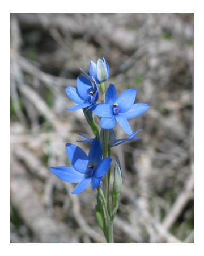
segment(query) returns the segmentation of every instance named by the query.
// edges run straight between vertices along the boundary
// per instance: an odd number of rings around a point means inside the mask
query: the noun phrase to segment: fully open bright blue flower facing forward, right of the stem
[[[111,129],[117,121],[127,134],[133,133],[127,119],[137,117],[150,108],[145,103],[134,104],[136,92],[135,89],[128,89],[117,96],[115,86],[113,84],[109,85],[105,93],[105,103],[95,104],[90,109],[101,117],[101,128]]]

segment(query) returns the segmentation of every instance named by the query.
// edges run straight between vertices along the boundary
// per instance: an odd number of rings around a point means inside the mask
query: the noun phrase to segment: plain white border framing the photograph
[[[8,255],[197,255],[203,242],[203,9],[201,1],[8,1],[1,12],[1,250]],[[122,245],[73,245],[73,244],[11,244],[10,245],[10,13],[12,12],[138,12],[138,13],[195,13],[195,72],[194,72],[194,118],[195,118],[195,244],[122,244]],[[6,72],[7,71],[7,72]],[[5,97],[5,95],[7,97]],[[5,136],[7,140],[5,140]],[[5,160],[5,152],[7,158]],[[198,254],[199,255],[199,254]]]

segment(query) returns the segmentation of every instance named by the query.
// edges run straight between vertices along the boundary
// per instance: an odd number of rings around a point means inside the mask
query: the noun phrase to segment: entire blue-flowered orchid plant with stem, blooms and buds
[[[88,68],[89,75],[80,68],[83,76],[77,77],[77,87],[68,86],[67,96],[73,100],[76,105],[67,108],[67,110],[82,109],[84,116],[95,138],[89,139],[83,134],[84,140],[78,142],[91,142],[88,155],[82,148],[75,144],[66,144],[66,153],[71,166],[50,167],[50,171],[58,176],[61,180],[78,183],[72,194],[78,194],[84,191],[90,183],[92,189],[97,189],[95,199],[96,221],[101,230],[103,230],[107,243],[114,243],[113,222],[118,209],[118,200],[120,197],[122,185],[122,172],[120,161],[116,158],[114,166],[114,181],[112,190],[112,200],[109,200],[109,185],[111,180],[111,148],[118,146],[126,141],[135,141],[133,138],[141,129],[131,130],[128,119],[137,117],[146,112],[148,104],[134,103],[136,89],[125,90],[118,96],[116,87],[110,84],[105,90],[105,81],[109,78],[109,65],[103,58],[98,59],[97,63],[90,61]],[[101,102],[99,100],[100,84]],[[94,119],[94,114],[99,118],[99,127]],[[116,139],[114,127],[116,121],[121,128],[129,135],[124,139]],[[103,180],[103,182],[102,182]]]

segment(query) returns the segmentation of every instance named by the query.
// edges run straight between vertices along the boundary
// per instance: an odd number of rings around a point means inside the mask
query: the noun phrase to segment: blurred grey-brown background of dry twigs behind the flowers
[[[76,132],[93,138],[65,93],[79,67],[105,57],[118,94],[137,89],[148,111],[139,141],[113,148],[122,168],[116,243],[193,243],[193,14],[11,14],[11,243],[104,243],[96,190],[49,167],[67,165]],[[127,135],[116,125],[116,138]],[[114,164],[113,164],[114,166]],[[113,177],[111,177],[113,181]],[[112,183],[112,182],[111,182]]]

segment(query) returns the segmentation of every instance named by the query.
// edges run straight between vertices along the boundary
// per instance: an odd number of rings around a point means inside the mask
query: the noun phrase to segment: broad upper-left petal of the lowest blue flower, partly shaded
[[[85,174],[86,168],[88,165],[88,156],[82,150],[82,148],[80,148],[74,144],[67,143],[66,144],[66,152],[67,152],[67,157],[69,158],[70,163],[73,165],[73,167],[77,171]]]

